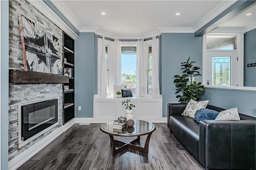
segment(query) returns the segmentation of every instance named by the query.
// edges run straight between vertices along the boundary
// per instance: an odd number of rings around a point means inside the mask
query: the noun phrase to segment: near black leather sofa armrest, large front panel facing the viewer
[[[256,168],[255,120],[203,120],[199,124],[199,160],[206,169]]]

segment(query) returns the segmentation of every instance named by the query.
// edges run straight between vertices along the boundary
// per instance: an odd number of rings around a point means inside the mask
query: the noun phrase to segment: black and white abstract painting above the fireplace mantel
[[[19,15],[24,69],[62,75],[62,46],[42,23]]]

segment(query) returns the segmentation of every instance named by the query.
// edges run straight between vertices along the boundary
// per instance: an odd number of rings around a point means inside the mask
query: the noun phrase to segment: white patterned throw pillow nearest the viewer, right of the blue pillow
[[[238,108],[221,111],[216,117],[216,120],[240,120]]]

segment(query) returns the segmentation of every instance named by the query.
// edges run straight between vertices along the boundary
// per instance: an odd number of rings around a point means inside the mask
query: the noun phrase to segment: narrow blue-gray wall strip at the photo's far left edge
[[[9,2],[1,1],[1,169],[8,169]]]

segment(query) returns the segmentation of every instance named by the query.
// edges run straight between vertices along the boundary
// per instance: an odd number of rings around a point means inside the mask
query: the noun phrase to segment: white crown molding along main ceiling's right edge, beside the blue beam
[[[201,19],[194,27],[194,32],[197,32],[199,29],[201,29],[203,26],[206,25],[210,20],[214,19],[216,16],[218,16],[220,13],[222,13],[224,10],[226,10],[228,7],[236,3],[236,1],[223,1],[220,3],[216,8],[214,8],[212,11],[210,11],[203,19]]]

